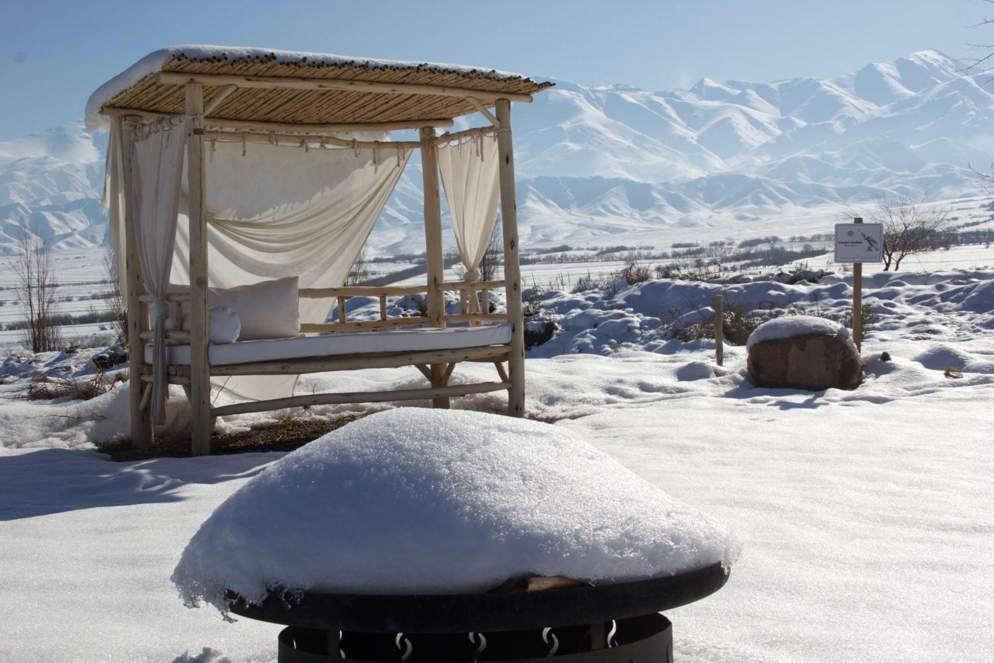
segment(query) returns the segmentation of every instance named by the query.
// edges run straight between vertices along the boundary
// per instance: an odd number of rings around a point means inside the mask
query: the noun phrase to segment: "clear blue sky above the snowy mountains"
[[[968,57],[979,0],[0,0],[0,140],[83,115],[89,93],[170,44],[479,65],[649,90],[830,78],[934,48]]]

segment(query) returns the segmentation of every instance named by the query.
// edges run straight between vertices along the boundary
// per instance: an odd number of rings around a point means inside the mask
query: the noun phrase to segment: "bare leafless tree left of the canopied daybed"
[[[27,229],[19,244],[21,255],[14,262],[14,275],[27,317],[24,342],[33,352],[59,349],[62,328],[55,320],[58,307],[52,246]]]

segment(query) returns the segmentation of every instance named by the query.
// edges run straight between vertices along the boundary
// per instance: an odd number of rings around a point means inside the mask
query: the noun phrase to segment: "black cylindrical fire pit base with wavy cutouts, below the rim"
[[[672,663],[673,628],[661,614],[490,633],[328,632],[288,626],[279,634],[278,661],[539,663],[550,656],[561,663]]]

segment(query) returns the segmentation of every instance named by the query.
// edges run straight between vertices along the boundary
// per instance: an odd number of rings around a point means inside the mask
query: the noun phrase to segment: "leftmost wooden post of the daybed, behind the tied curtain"
[[[152,443],[152,413],[141,406],[141,369],[145,365],[145,342],[141,332],[145,331],[144,308],[139,299],[145,293],[145,284],[141,278],[141,268],[138,265],[138,245],[134,239],[134,206],[131,198],[131,129],[134,123],[122,121],[120,116],[113,119],[115,133],[120,138],[121,170],[124,181],[121,182],[124,196],[124,264],[127,282],[127,352],[128,352],[128,384],[131,404],[131,444],[138,448],[147,447]],[[113,149],[110,145],[109,149]],[[121,247],[119,247],[121,248]]]

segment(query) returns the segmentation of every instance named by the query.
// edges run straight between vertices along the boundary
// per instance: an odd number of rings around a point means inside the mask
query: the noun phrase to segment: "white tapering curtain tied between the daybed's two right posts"
[[[479,279],[477,268],[494,228],[500,196],[497,158],[497,138],[490,136],[438,149],[438,171],[467,281]]]

